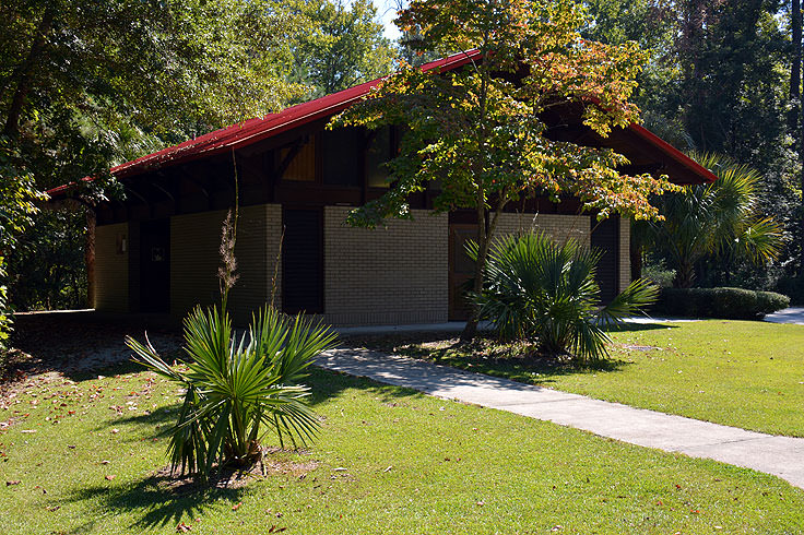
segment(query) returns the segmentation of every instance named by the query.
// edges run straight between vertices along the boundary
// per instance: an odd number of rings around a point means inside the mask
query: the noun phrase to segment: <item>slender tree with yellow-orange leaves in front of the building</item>
[[[422,49],[466,51],[480,59],[447,73],[410,66],[383,82],[335,124],[401,129],[399,155],[389,163],[394,186],[350,216],[374,226],[407,216],[407,197],[438,181],[438,211],[474,209],[477,262],[474,293],[483,288],[486,259],[503,209],[523,195],[578,197],[586,210],[636,218],[657,214],[652,193],[664,179],[620,175],[626,160],[608,150],[545,136],[541,114],[584,103],[583,122],[601,135],[638,119],[629,102],[645,60],[636,44],[604,45],[579,33],[584,10],[570,0],[436,0],[411,2],[397,21]],[[463,337],[474,336],[476,307]]]

